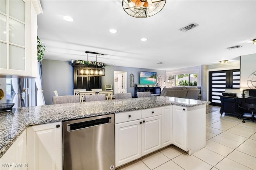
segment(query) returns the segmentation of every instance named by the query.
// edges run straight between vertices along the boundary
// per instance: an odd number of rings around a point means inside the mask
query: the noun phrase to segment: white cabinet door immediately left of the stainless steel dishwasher
[[[62,123],[27,128],[28,170],[62,170]]]

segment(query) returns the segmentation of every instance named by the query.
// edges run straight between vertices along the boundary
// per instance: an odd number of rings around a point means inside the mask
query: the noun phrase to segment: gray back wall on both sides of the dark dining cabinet
[[[44,90],[44,100],[46,105],[52,104],[53,91],[57,90],[58,95],[73,95],[74,75],[73,67],[68,61],[43,60],[42,89]],[[127,92],[134,96],[134,87],[130,87],[130,74],[134,75],[134,86],[140,81],[140,71],[153,71],[162,76],[162,85],[166,76],[165,70],[142,69],[133,67],[119,67],[106,65],[105,76],[102,76],[102,89],[105,84],[112,84],[114,89],[114,71],[127,72]],[[161,88],[161,90],[163,87]]]

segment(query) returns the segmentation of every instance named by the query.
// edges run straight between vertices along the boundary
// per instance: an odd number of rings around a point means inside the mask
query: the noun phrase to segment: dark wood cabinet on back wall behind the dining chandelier
[[[92,75],[79,75],[80,65],[73,65],[74,68],[74,89],[86,89],[86,91],[91,91],[92,89],[101,89],[102,84],[101,76]]]

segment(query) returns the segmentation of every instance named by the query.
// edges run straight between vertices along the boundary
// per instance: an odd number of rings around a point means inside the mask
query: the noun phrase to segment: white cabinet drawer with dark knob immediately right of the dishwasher
[[[115,124],[141,119],[141,110],[115,113]]]

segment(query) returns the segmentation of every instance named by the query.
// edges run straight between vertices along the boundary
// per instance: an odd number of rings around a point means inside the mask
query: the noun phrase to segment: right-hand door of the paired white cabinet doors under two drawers
[[[162,116],[142,119],[142,156],[161,148]]]

